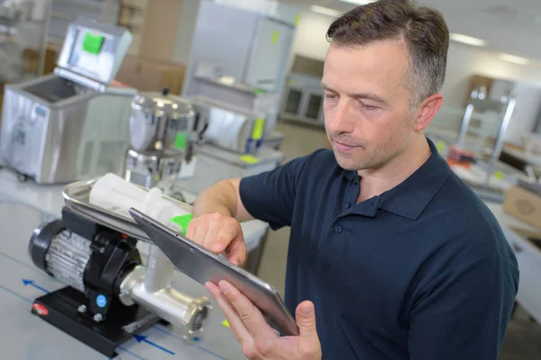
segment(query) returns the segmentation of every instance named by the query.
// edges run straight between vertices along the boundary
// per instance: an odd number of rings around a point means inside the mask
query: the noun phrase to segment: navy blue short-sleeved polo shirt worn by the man
[[[318,150],[243,178],[241,199],[291,227],[286,304],[314,302],[325,359],[494,360],[518,265],[491,211],[432,155],[363,202],[359,176]]]

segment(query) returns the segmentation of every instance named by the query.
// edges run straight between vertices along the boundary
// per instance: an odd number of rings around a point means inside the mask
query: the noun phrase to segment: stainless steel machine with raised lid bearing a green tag
[[[132,41],[123,28],[78,18],[54,74],[6,85],[0,152],[38,184],[119,173],[133,88],[113,83]]]

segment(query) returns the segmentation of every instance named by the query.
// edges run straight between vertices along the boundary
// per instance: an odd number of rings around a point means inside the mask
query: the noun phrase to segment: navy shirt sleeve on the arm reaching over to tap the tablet
[[[291,226],[300,176],[310,157],[298,157],[276,169],[243,177],[239,193],[246,210],[271,229]]]

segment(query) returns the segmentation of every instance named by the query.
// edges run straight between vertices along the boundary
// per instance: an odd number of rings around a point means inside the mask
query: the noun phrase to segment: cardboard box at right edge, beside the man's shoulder
[[[511,186],[505,194],[503,211],[541,229],[541,196],[519,186]]]

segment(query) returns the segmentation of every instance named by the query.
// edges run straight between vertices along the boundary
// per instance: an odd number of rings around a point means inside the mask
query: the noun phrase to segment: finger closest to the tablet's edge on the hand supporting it
[[[222,293],[225,293],[227,300],[233,305],[234,310],[239,314],[240,319],[243,320],[244,326],[252,334],[256,344],[261,341],[271,341],[277,337],[274,330],[271,329],[267,321],[263,318],[261,311],[243,293],[239,292],[232,284],[229,284],[225,280],[220,281],[218,285]]]

